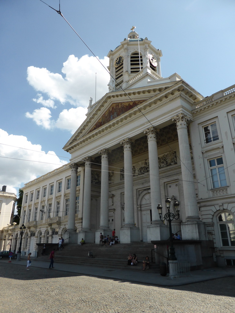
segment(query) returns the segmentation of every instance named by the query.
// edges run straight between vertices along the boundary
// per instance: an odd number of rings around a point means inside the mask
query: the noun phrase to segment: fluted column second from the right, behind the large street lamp
[[[144,134],[148,137],[149,146],[149,177],[151,192],[151,208],[152,208],[152,224],[159,223],[160,217],[157,206],[161,203],[161,189],[158,166],[158,148],[157,148],[157,131],[154,127],[144,130]],[[162,223],[162,222],[161,222]]]

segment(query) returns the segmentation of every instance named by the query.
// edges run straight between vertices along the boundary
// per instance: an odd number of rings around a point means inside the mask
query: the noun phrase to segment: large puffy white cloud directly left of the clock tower
[[[108,58],[100,59],[106,68]],[[35,90],[47,94],[50,100],[66,102],[74,106],[87,107],[92,96],[95,99],[95,81],[97,73],[97,100],[108,91],[109,73],[99,61],[88,55],[80,59],[70,55],[63,64],[61,74],[51,73],[46,68],[29,66],[27,80]]]

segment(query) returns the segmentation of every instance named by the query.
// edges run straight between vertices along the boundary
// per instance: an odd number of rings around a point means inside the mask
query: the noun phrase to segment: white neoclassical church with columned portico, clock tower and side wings
[[[177,73],[163,78],[161,56],[135,31],[109,51],[109,92],[63,147],[70,163],[22,188],[24,253],[114,228],[121,243],[167,240],[167,196],[180,203],[172,232],[213,241],[214,262],[235,266],[235,85],[205,98]]]

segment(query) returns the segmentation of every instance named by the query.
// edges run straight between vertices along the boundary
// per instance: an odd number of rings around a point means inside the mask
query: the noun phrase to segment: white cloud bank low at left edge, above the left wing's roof
[[[68,163],[60,160],[54,151],[47,153],[42,151],[40,145],[32,144],[25,136],[9,135],[2,129],[0,129],[0,156],[0,188],[6,185],[8,192],[16,194],[24,183]]]

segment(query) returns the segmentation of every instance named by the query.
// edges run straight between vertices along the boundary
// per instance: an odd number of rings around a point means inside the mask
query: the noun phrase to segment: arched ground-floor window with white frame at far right
[[[222,246],[235,246],[235,225],[233,215],[225,212],[218,215],[217,218]]]

